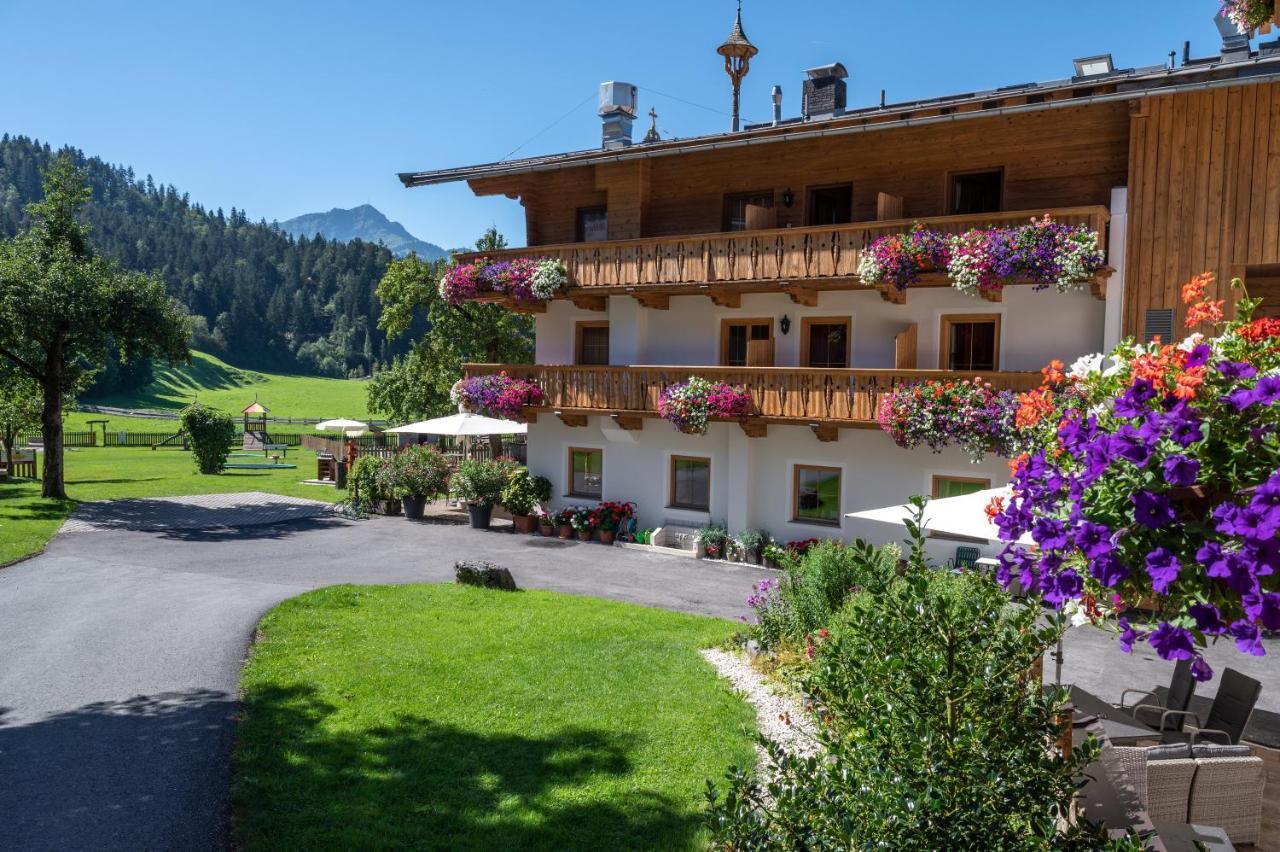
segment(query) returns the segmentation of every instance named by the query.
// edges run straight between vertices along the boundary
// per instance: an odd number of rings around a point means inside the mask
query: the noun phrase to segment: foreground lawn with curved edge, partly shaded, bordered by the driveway
[[[246,849],[701,848],[753,714],[698,649],[736,626],[539,591],[337,586],[261,623]]]

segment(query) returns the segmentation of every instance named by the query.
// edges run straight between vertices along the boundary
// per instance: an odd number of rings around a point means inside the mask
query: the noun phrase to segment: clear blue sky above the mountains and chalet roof
[[[742,111],[767,119],[778,83],[783,113],[799,113],[803,69],[836,60],[850,72],[850,106],[863,106],[881,88],[895,101],[1068,77],[1071,58],[1089,54],[1156,64],[1187,38],[1204,55],[1219,47],[1217,6],[746,0],[760,54]],[[516,156],[593,147],[605,79],[640,86],[640,107],[657,107],[664,136],[727,129],[728,81],[714,49],[733,9],[733,0],[0,0],[0,132],[74,145],[253,219],[367,202],[445,247],[489,224],[520,244],[517,202],[474,198],[462,184],[403,189],[396,173],[504,159],[562,116]]]

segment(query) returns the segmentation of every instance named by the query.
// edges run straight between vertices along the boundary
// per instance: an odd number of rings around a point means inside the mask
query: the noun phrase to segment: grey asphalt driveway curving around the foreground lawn
[[[481,555],[521,586],[726,618],[763,576],[265,494],[87,504],[44,555],[0,569],[0,849],[225,848],[261,615],[334,583],[451,581]]]

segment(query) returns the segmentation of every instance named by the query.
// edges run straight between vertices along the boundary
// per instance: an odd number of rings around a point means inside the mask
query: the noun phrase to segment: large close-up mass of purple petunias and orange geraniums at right
[[[1248,298],[1222,322],[1211,280],[1183,301],[1217,338],[1125,343],[1106,368],[1091,356],[1046,371],[1018,416],[1036,449],[1011,463],[1012,496],[993,512],[1001,539],[1029,533],[1039,550],[1006,546],[1004,582],[1055,606],[1112,600],[1098,618],[1116,618],[1121,649],[1147,641],[1199,679],[1207,640],[1262,655],[1261,631],[1280,629],[1280,324],[1252,320]],[[1149,632],[1120,615],[1142,600],[1160,614]]]

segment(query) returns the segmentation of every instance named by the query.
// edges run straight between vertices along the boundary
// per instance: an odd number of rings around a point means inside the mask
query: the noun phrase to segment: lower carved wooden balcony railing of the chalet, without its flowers
[[[547,404],[527,409],[554,412],[568,426],[585,426],[588,416],[612,416],[622,429],[643,429],[658,416],[663,389],[690,376],[744,385],[751,394],[751,414],[742,422],[759,438],[769,423],[810,426],[820,440],[835,440],[840,429],[876,429],[881,397],[893,388],[923,379],[968,380],[978,374],[945,370],[815,370],[809,367],[580,367],[468,363],[467,376],[506,371],[541,386]],[[982,374],[996,389],[1030,390],[1038,372]]]

